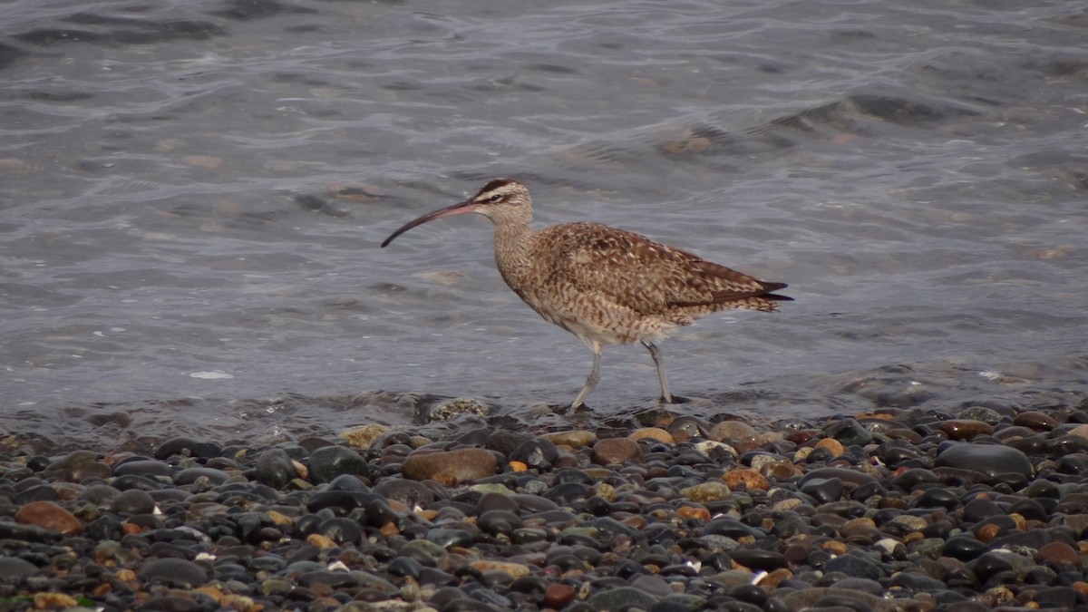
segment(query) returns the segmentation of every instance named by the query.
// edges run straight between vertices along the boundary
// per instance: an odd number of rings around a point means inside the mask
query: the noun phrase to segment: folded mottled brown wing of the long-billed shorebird
[[[597,223],[556,225],[542,237],[553,254],[549,282],[599,293],[644,315],[688,308],[772,310],[778,296],[763,296],[784,286]]]

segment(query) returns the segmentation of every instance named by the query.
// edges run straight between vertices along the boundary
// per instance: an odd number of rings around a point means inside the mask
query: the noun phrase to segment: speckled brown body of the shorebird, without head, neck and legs
[[[507,253],[496,243],[510,287],[545,319],[604,344],[656,342],[726,308],[777,310],[771,292],[784,286],[599,223],[553,225],[519,241]]]

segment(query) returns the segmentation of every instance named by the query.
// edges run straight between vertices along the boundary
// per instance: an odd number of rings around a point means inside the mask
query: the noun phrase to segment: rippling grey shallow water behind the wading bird
[[[664,344],[680,412],[1088,390],[1071,2],[76,2],[0,15],[0,428],[276,439],[459,395],[558,427],[591,353],[494,269],[518,178],[790,284]],[[655,405],[609,347],[588,418]]]

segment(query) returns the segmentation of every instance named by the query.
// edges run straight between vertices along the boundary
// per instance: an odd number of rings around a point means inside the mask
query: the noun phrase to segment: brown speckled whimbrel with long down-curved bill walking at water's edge
[[[479,212],[495,225],[495,262],[506,284],[546,321],[593,350],[593,369],[570,414],[601,380],[606,344],[640,342],[657,366],[662,401],[675,403],[657,343],[677,328],[727,308],[778,309],[786,283],[761,281],[691,253],[601,223],[532,229],[533,200],[517,181],[495,179],[469,199],[409,221],[385,238],[454,215]]]

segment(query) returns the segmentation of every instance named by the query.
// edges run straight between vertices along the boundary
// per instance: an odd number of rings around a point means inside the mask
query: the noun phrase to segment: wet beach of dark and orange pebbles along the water
[[[0,456],[0,608],[1088,607],[1088,401]],[[592,429],[592,430],[591,430]]]

